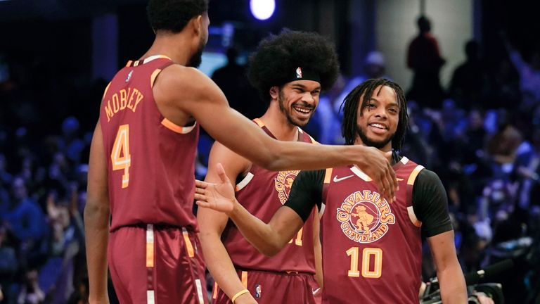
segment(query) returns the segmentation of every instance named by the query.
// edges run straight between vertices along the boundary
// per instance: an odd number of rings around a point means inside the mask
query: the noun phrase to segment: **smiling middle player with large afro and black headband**
[[[319,34],[283,31],[259,44],[249,66],[250,82],[269,101],[266,113],[255,120],[257,125],[281,141],[313,142],[300,127],[314,114],[321,90],[330,88],[338,75],[333,45]],[[285,203],[298,173],[265,170],[217,142],[210,151],[207,182],[219,182],[214,170],[217,163],[237,182],[238,201],[264,221]],[[200,208],[200,241],[217,283],[212,302],[314,303],[313,290],[318,285],[314,281],[315,261],[317,258],[321,265],[321,243],[313,209],[295,238],[268,258],[244,239],[224,213]]]

